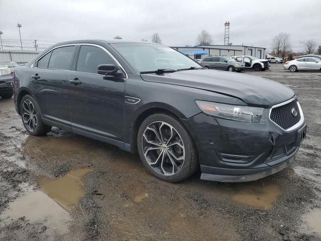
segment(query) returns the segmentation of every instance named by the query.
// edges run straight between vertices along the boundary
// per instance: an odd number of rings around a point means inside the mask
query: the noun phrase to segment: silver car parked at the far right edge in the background
[[[283,68],[295,72],[298,70],[321,70],[321,60],[312,57],[304,57],[286,61]]]

